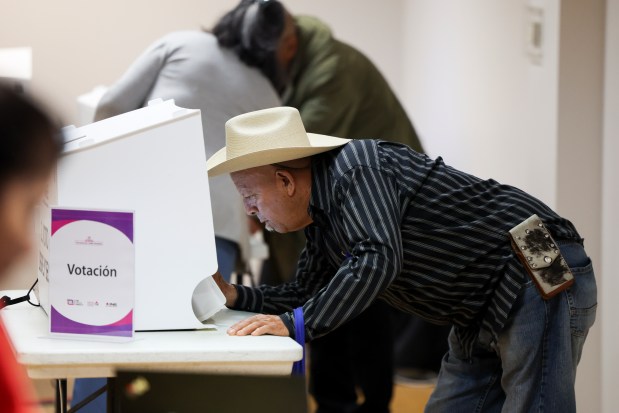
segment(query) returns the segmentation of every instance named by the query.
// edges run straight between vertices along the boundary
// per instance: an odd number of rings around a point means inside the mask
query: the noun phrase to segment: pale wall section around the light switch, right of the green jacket
[[[558,0],[541,66],[525,54],[522,0],[405,2],[404,91],[427,151],[555,203]]]

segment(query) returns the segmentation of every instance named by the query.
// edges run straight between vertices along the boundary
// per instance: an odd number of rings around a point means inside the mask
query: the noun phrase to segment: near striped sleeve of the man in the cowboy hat
[[[338,214],[341,220],[350,257],[303,305],[308,341],[363,312],[402,269],[395,179],[371,167],[356,167],[340,179],[335,193],[339,207],[330,213]],[[286,313],[284,318],[292,320],[292,313]]]

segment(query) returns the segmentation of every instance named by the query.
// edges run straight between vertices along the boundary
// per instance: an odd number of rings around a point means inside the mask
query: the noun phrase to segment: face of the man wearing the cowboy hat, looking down
[[[286,177],[273,166],[252,168],[231,174],[243,197],[245,212],[255,215],[268,231],[285,233],[307,225],[307,205],[295,202]]]

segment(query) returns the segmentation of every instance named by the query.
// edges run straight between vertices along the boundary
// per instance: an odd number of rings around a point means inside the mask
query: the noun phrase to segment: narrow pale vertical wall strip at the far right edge
[[[606,67],[604,98],[602,265],[600,325],[602,330],[602,411],[619,406],[619,0],[606,0]]]

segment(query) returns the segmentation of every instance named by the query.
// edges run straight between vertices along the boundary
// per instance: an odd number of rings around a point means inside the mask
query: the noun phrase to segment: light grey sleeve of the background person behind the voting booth
[[[95,121],[143,107],[166,63],[167,54],[165,38],[158,40],[142,53],[120,80],[103,95],[97,105]]]

